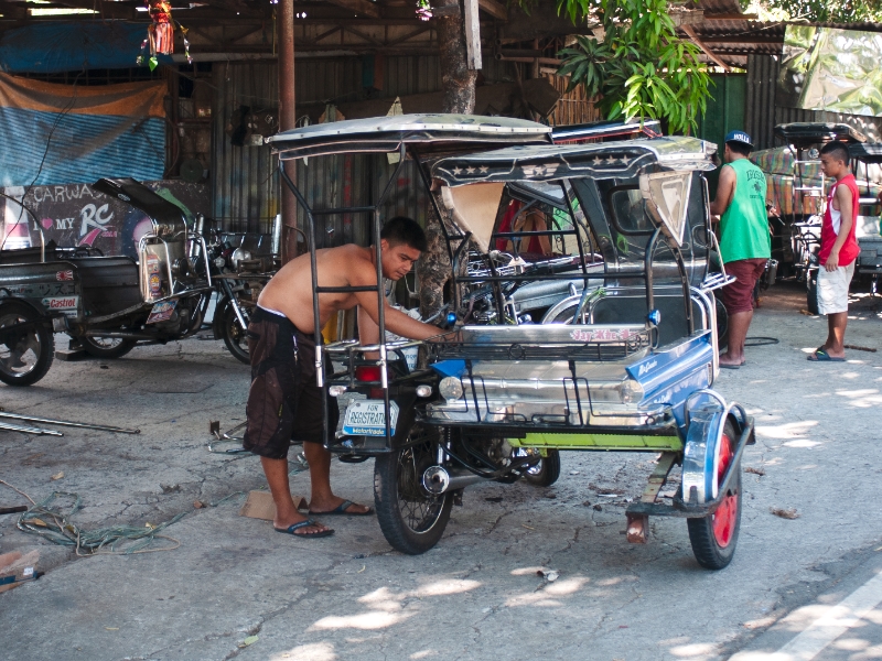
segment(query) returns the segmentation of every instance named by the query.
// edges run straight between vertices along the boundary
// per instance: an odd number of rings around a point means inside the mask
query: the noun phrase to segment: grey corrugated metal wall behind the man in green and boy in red
[[[882,118],[804,110],[775,106],[779,58],[775,55],[747,57],[747,94],[745,99],[745,130],[753,137],[756,149],[776,147],[775,124],[794,121],[826,121],[848,123],[872,141],[882,141]]]

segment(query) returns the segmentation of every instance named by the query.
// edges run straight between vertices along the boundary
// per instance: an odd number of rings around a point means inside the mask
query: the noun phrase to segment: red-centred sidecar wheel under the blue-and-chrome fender
[[[717,453],[720,457],[717,474],[722,480],[735,455],[735,426],[729,420]],[[734,466],[738,475],[717,510],[703,519],[687,519],[689,541],[698,564],[707,570],[722,570],[735,554],[738,532],[741,528],[741,465]]]

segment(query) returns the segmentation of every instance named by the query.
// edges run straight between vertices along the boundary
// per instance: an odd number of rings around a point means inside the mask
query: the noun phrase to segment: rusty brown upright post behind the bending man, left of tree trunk
[[[294,105],[294,0],[279,0],[276,24],[279,31],[279,130],[288,131],[297,124]],[[281,167],[297,181],[293,161],[281,161]],[[297,257],[297,199],[281,182],[280,210],[282,215],[282,263]]]

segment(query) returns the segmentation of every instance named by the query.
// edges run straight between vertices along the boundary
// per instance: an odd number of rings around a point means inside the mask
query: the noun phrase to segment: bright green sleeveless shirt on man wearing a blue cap
[[[765,174],[747,159],[729,166],[735,171],[735,194],[720,218],[723,262],[772,257],[772,237],[765,210]]]

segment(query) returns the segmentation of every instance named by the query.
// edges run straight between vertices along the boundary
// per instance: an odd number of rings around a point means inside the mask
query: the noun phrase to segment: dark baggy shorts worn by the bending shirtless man
[[[251,388],[245,449],[283,459],[291,441],[322,443],[322,390],[315,386],[315,342],[288,317],[256,308],[248,324]],[[329,433],[340,411],[329,398]]]

